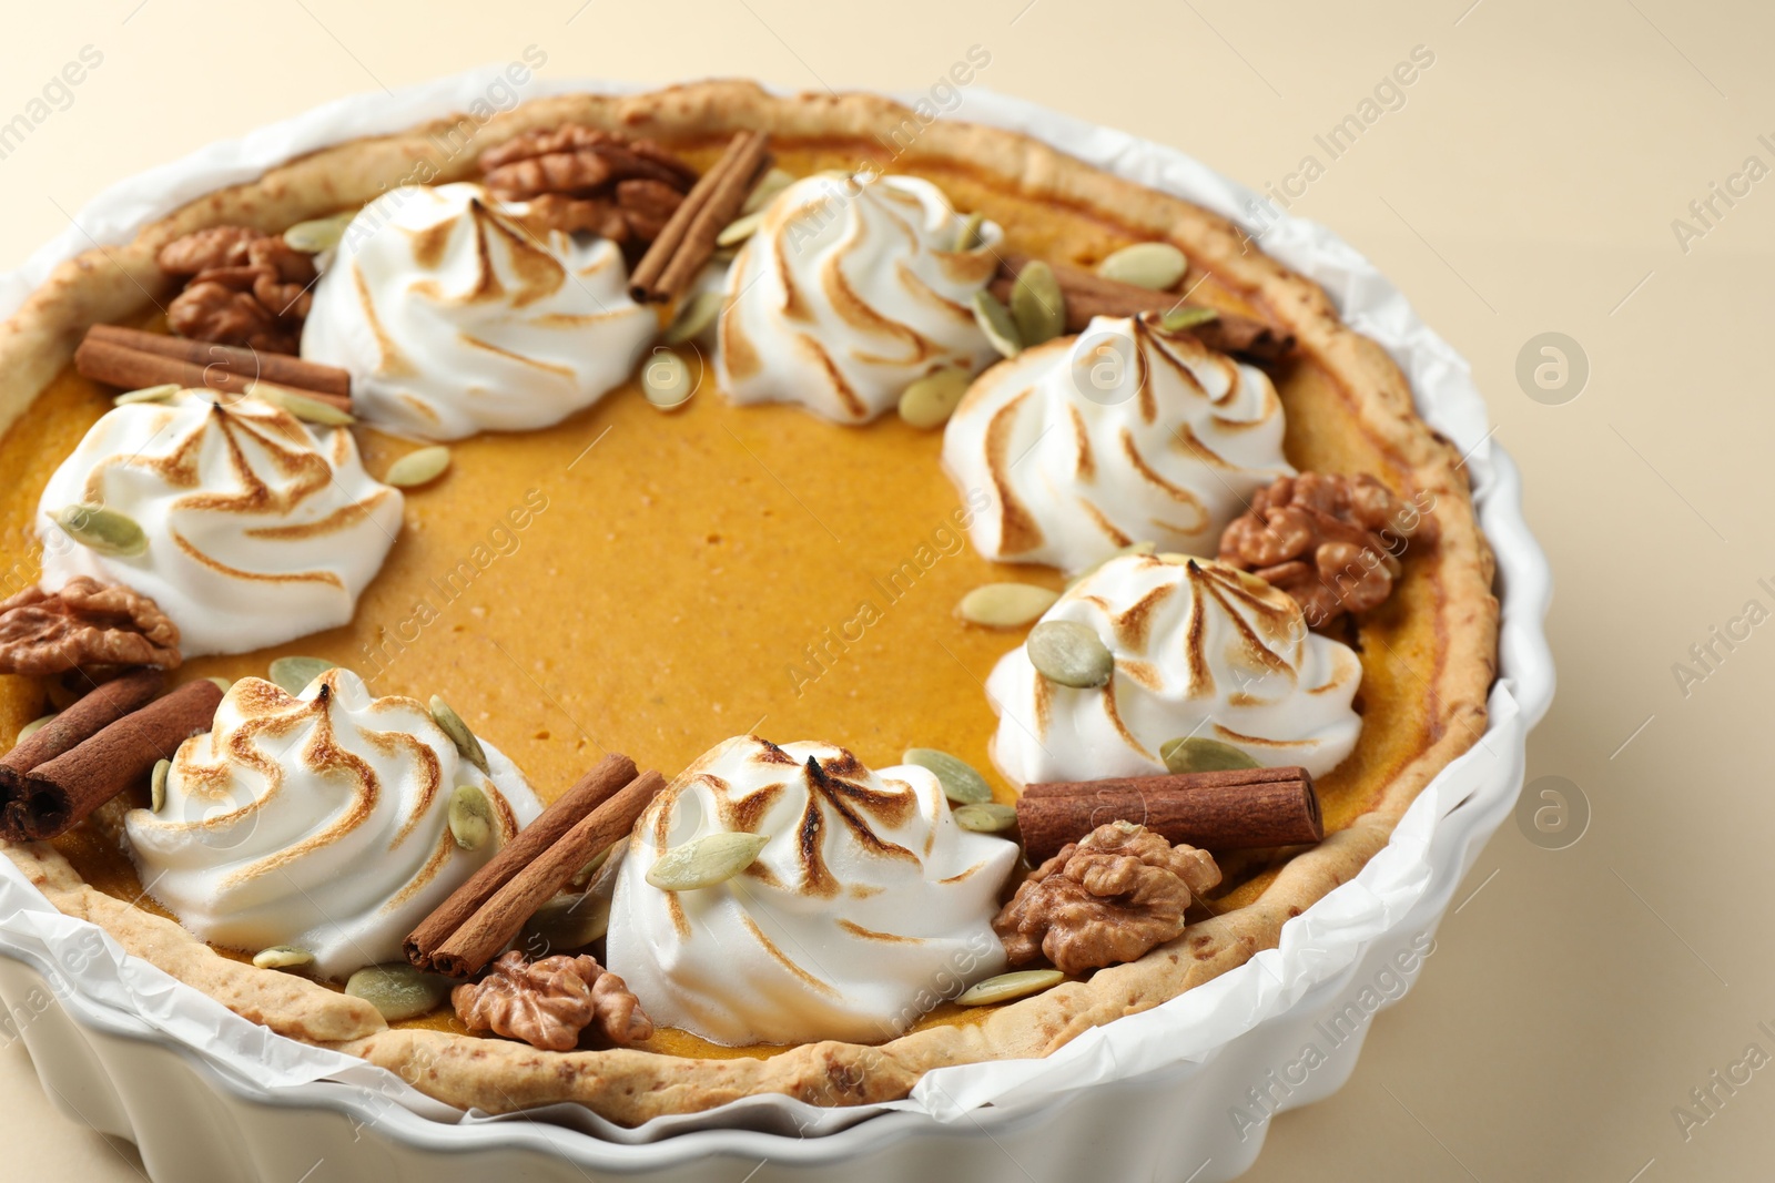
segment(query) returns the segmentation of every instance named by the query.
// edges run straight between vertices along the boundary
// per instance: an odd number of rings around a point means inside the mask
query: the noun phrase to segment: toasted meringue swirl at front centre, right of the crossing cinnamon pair
[[[724,832],[770,841],[717,887],[648,883],[667,850]],[[992,915],[1015,860],[955,823],[925,768],[738,736],[637,823],[607,965],[657,1023],[715,1043],[877,1043],[1003,968]]]

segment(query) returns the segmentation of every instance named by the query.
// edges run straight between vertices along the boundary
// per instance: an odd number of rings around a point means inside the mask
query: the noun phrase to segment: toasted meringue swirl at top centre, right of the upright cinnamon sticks
[[[841,424],[898,404],[916,378],[998,356],[973,298],[1003,234],[957,252],[964,220],[930,181],[813,176],[783,190],[728,277],[721,388],[735,403],[801,403]]]

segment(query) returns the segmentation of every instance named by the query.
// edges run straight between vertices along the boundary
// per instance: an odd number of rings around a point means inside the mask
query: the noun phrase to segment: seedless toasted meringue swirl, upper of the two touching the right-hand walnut
[[[943,435],[958,488],[985,490],[974,548],[1079,571],[1129,543],[1212,555],[1253,490],[1294,472],[1269,376],[1143,319],[994,365]]]

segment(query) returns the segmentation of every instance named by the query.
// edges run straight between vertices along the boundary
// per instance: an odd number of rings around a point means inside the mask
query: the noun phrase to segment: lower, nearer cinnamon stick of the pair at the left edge
[[[25,795],[9,800],[0,814],[0,837],[41,842],[66,834],[206,731],[220,702],[222,688],[213,681],[188,681],[37,764],[25,773]]]

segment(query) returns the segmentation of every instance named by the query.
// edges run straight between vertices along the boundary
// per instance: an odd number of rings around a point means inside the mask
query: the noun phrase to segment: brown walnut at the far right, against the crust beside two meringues
[[[1436,543],[1436,520],[1363,474],[1303,472],[1251,497],[1221,534],[1219,557],[1280,587],[1324,628],[1381,607],[1408,543]]]

